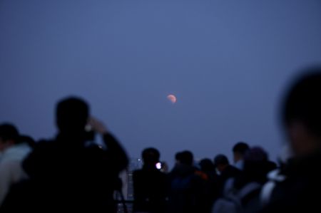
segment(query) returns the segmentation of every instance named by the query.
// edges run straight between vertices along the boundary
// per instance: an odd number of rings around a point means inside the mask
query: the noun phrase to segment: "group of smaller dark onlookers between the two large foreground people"
[[[193,153],[184,150],[176,153],[173,170],[162,172],[156,167],[160,162],[156,148],[143,150],[142,158],[143,168],[133,172],[133,212],[236,212],[227,209],[226,202],[236,207],[243,198],[240,207],[256,212],[267,174],[277,170],[263,148],[245,142],[234,145],[233,164],[223,154],[195,162]]]

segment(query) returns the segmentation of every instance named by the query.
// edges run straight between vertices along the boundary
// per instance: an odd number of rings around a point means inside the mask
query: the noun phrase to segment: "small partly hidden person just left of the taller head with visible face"
[[[240,175],[240,170],[233,165],[230,165],[228,157],[219,154],[214,157],[214,165],[216,170],[220,173],[218,176],[218,196],[223,194],[223,188],[226,180],[230,177],[236,177]]]

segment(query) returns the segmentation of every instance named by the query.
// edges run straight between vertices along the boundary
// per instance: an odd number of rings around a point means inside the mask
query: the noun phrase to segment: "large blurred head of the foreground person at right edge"
[[[321,149],[321,67],[304,72],[290,86],[282,106],[282,122],[297,156]]]

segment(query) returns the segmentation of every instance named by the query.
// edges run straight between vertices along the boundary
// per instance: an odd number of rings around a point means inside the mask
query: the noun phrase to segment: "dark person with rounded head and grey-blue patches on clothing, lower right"
[[[267,152],[252,147],[243,160],[243,170],[226,180],[223,197],[215,202],[213,213],[255,213],[260,209],[260,189],[269,170]]]

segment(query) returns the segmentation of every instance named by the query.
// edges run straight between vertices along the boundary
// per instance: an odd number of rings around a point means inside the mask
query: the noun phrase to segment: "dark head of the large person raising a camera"
[[[61,133],[77,134],[85,131],[88,104],[81,98],[66,98],[56,106],[56,124]]]

